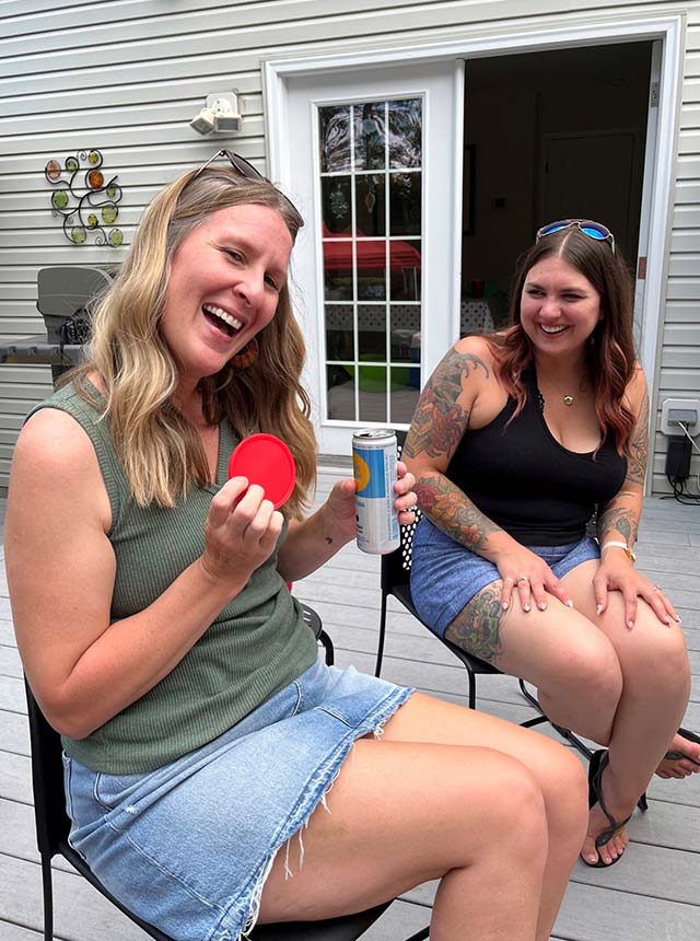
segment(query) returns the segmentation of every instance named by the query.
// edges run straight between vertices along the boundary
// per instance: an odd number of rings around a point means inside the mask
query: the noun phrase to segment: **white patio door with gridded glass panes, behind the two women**
[[[458,336],[462,61],[288,79],[293,262],[319,449],[407,427]]]

